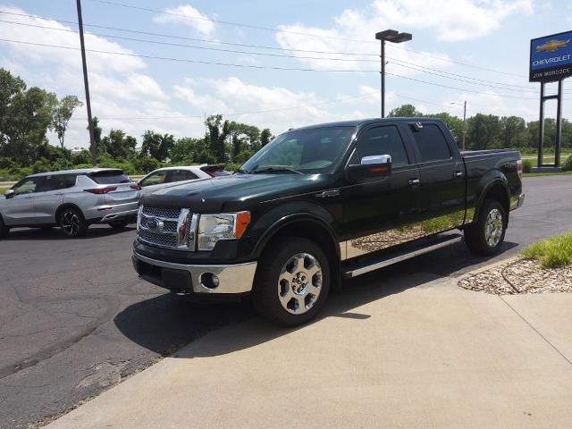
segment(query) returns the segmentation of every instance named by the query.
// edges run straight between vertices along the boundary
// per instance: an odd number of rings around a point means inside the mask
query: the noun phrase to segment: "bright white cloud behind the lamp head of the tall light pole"
[[[483,37],[498,28],[508,16],[532,13],[532,10],[532,0],[375,0],[364,9],[346,9],[334,18],[330,28],[301,23],[281,25],[279,28],[284,31],[277,33],[275,38],[286,49],[368,55],[349,57],[292,52],[301,63],[315,69],[378,70],[379,60],[375,55],[379,52],[379,44],[374,43],[373,37],[379,29],[399,28],[412,32],[415,29],[430,29],[438,39],[459,41]],[[304,33],[320,38],[306,36]],[[360,42],[367,40],[372,40],[372,43]],[[452,65],[449,55],[444,53],[415,54],[401,47],[387,45],[390,72],[416,74],[419,71],[410,68],[413,64],[425,67],[438,65],[440,68]],[[344,61],[336,60],[340,57]]]

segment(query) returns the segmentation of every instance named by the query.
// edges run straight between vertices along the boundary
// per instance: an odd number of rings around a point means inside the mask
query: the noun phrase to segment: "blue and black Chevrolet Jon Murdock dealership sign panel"
[[[530,81],[551,82],[572,76],[572,31],[530,41]]]

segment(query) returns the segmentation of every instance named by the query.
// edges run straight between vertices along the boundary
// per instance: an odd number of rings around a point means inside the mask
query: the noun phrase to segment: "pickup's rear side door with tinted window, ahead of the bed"
[[[420,215],[426,235],[462,225],[466,210],[465,164],[449,130],[436,122],[409,124],[419,162]]]

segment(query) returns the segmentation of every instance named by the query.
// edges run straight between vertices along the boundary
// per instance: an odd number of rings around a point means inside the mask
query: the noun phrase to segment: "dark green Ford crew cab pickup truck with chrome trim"
[[[142,198],[133,264],[188,299],[250,294],[293,326],[355,277],[463,240],[497,253],[524,202],[513,150],[459,153],[440,120],[289,130],[231,176]]]

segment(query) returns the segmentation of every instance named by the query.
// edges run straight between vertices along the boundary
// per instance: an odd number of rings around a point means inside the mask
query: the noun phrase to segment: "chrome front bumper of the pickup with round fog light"
[[[133,252],[133,266],[141,278],[178,294],[244,294],[252,290],[256,262],[233,265],[186,265],[159,261]],[[207,282],[213,275],[218,285]],[[205,283],[208,285],[206,286]]]

